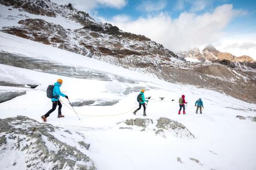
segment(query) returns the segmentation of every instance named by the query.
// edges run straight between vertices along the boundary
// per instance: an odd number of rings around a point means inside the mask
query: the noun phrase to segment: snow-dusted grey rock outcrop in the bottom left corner
[[[54,132],[62,133],[50,124],[41,124],[25,116],[0,119],[0,157],[8,152],[22,152],[27,169],[96,169],[87,155],[55,138],[51,134]],[[89,149],[90,144],[78,143]],[[51,145],[54,151],[48,148]]]

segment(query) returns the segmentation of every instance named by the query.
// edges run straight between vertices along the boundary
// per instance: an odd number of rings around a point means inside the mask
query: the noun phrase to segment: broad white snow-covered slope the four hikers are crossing
[[[46,97],[46,88],[61,78],[61,91],[69,96],[70,101],[84,102],[83,106],[74,107],[80,120],[68,101],[61,98],[65,118],[57,118],[55,111],[48,117],[47,123],[65,128],[72,134],[81,133],[86,143],[91,144],[89,150],[83,149],[82,153],[90,157],[97,169],[256,168],[256,123],[252,121],[255,120],[252,117],[256,116],[255,104],[212,90],[168,83],[150,75],[4,33],[0,35],[2,39],[6,38],[5,43],[0,45],[1,51],[24,55],[49,65],[55,63],[74,66],[77,70],[90,70],[94,75],[94,78],[87,76],[79,79],[76,76],[59,76],[54,71],[67,71],[70,67],[52,67],[51,74],[51,71],[0,64],[0,82],[38,85],[34,89],[27,85],[0,86],[0,91],[26,91],[26,94],[0,104],[0,118],[24,115],[41,122],[40,116],[52,106]],[[118,79],[114,80],[116,77]],[[133,114],[138,107],[137,94],[142,88],[146,89],[145,96],[152,96],[146,117],[142,116],[142,109],[137,115]],[[182,94],[185,94],[188,102],[187,114],[178,115],[178,99]],[[159,97],[164,97],[163,101]],[[203,114],[195,114],[194,104],[198,98],[204,102]],[[64,139],[62,133],[56,131],[54,134],[62,142],[79,149],[77,141],[81,140],[81,136],[65,135],[68,138]],[[6,134],[0,135],[4,139],[3,135]],[[50,141],[47,138],[44,140]],[[12,139],[8,139],[9,142]],[[46,144],[53,147],[50,142]],[[25,160],[20,160],[19,166],[15,166],[14,162],[5,164],[5,155],[14,152],[10,147],[7,150],[4,148],[7,145],[3,142],[0,144],[4,153],[0,155],[1,169],[22,169],[20,165],[26,167]],[[18,149],[19,154],[22,152],[22,149]]]

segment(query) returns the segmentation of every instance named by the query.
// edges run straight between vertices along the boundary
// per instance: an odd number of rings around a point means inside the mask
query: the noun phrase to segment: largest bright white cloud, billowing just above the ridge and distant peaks
[[[183,12],[177,19],[161,12],[137,20],[114,18],[108,22],[123,31],[145,35],[177,52],[219,40],[228,23],[241,13],[243,11],[234,10],[232,5],[222,5],[212,13],[201,15]]]

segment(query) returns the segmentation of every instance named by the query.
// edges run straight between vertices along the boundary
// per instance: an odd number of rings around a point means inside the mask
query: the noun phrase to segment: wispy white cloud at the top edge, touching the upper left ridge
[[[120,9],[127,4],[127,0],[52,0],[59,5],[71,3],[74,8],[91,13],[93,9],[99,7],[110,7]]]

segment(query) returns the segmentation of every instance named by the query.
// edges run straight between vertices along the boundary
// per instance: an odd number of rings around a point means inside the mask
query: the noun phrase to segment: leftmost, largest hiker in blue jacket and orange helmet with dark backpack
[[[45,115],[42,115],[42,116],[41,116],[41,118],[42,118],[42,120],[43,120],[44,122],[46,122],[46,118],[56,109],[57,105],[59,106],[59,108],[58,108],[58,118],[64,117],[64,116],[61,114],[61,107],[62,107],[62,105],[61,105],[61,103],[60,103],[60,101],[59,101],[59,96],[61,95],[62,97],[65,97],[65,98],[67,98],[67,99],[69,99],[69,98],[68,98],[67,95],[65,95],[65,94],[63,94],[62,92],[60,92],[59,87],[61,86],[62,82],[63,82],[63,81],[62,81],[61,79],[58,79],[57,82],[54,83],[54,87],[53,87],[52,92],[51,92],[52,95],[50,95],[50,96],[51,96],[51,101],[52,101],[52,109],[49,110]],[[50,85],[50,86],[51,86],[51,85]],[[49,88],[49,87],[48,87],[48,88]],[[50,91],[51,91],[51,89],[50,89]],[[47,92],[48,92],[48,89],[47,89]],[[47,95],[47,96],[48,96],[48,95]],[[49,96],[48,96],[48,97],[49,97]]]

